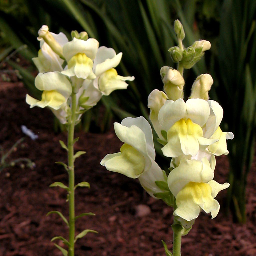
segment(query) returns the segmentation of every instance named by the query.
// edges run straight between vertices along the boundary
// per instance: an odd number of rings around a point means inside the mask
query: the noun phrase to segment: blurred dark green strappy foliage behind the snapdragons
[[[184,72],[185,99],[195,78],[210,73],[214,79],[210,97],[224,109],[222,130],[234,133],[228,145],[231,186],[227,205],[238,221],[245,222],[246,178],[256,132],[255,14],[255,0],[0,0],[0,68],[1,61],[15,50],[29,62],[37,56],[37,31],[43,24],[67,36],[74,29],[87,31],[100,45],[122,51],[118,71],[135,76],[134,82],[127,90],[103,97],[80,125],[84,131],[103,132],[112,125],[113,116],[148,119],[148,94],[163,88],[160,68],[175,68],[167,50],[177,45],[173,22],[178,18],[186,33],[185,47],[198,39],[211,42],[205,57]],[[31,93],[40,97],[31,74],[33,63],[26,68],[12,59],[8,63],[19,70]],[[161,146],[155,145],[159,151]]]

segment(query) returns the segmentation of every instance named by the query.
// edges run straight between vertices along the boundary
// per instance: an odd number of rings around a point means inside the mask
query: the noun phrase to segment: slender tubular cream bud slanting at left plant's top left
[[[42,25],[42,27],[38,30],[37,40],[41,41],[42,39],[44,39],[46,44],[48,44],[56,54],[58,54],[61,58],[64,58],[62,46],[55,40],[53,35],[49,32],[49,28],[47,25]]]

